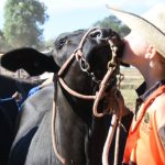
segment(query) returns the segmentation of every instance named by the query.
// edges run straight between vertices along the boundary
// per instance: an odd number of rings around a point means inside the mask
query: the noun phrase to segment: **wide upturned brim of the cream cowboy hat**
[[[160,29],[140,15],[107,7],[118,19],[140,34],[148,44],[156,47],[157,52],[165,57],[165,34]]]

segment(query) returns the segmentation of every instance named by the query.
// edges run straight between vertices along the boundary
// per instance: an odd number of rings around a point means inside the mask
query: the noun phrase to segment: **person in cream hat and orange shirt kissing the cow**
[[[165,165],[165,4],[142,15],[109,9],[131,29],[123,38],[122,62],[136,67],[144,77],[136,90],[123,164]]]

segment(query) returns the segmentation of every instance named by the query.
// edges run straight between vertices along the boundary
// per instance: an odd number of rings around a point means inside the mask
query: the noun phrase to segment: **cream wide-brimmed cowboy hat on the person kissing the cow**
[[[141,16],[109,6],[108,8],[165,57],[165,4],[158,4]]]

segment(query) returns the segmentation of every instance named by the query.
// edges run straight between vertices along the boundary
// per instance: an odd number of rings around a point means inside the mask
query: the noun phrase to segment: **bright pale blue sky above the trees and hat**
[[[47,7],[50,19],[42,26],[45,40],[55,38],[63,32],[88,29],[99,20],[111,14],[106,7],[142,14],[156,3],[165,0],[40,0]],[[0,0],[0,29],[3,28],[3,7],[7,0]]]

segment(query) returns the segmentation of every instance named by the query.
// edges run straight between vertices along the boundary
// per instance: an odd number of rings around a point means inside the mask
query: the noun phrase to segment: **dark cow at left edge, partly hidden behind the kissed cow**
[[[41,80],[32,82],[0,75],[0,165],[7,165],[10,147],[14,140],[14,124],[19,107],[12,96],[19,91],[23,98],[26,98],[29,90],[41,82]]]

